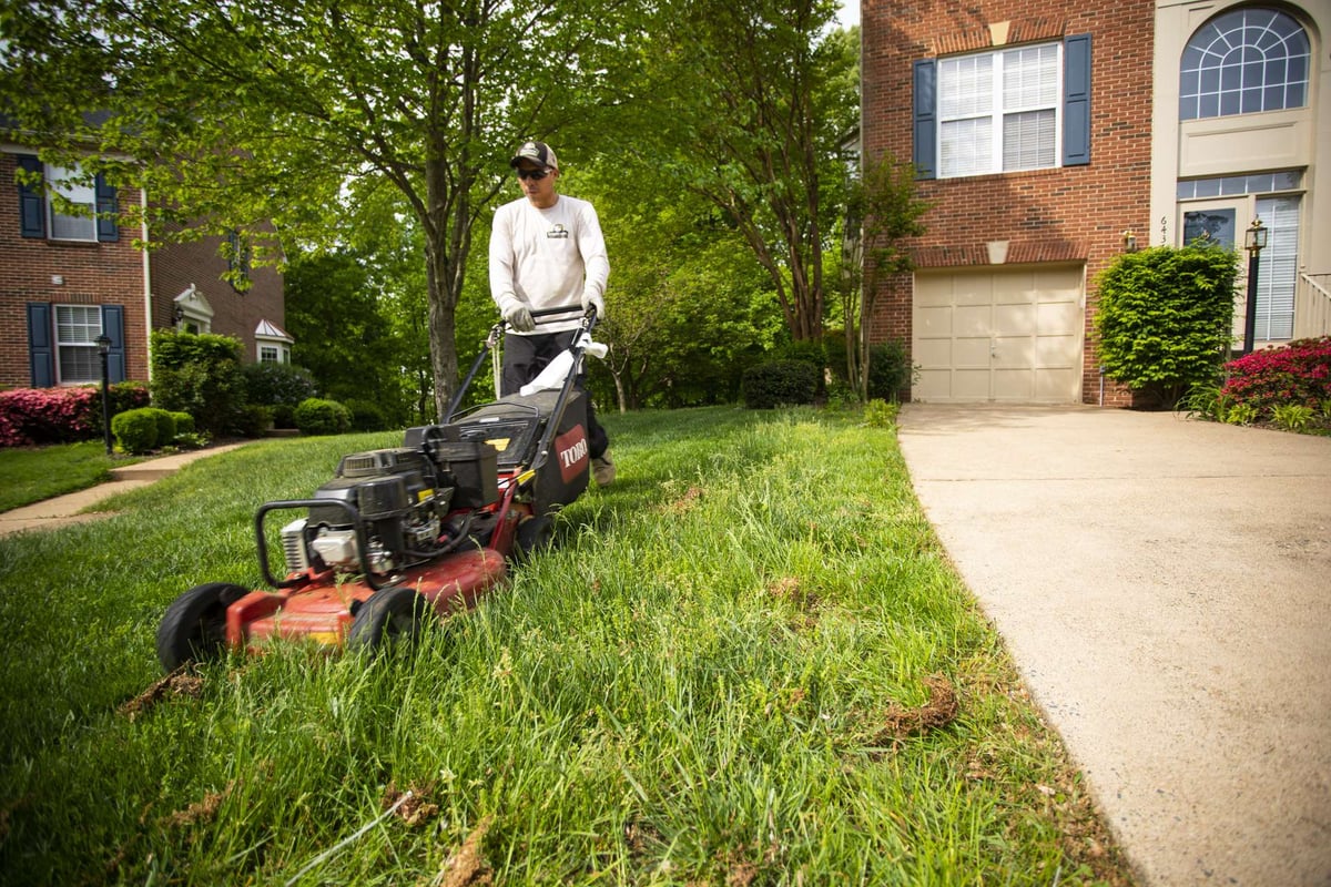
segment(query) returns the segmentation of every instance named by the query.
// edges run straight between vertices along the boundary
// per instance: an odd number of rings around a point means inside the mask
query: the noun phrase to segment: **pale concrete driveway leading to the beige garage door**
[[[1331,884],[1331,438],[908,404],[961,576],[1146,884]]]

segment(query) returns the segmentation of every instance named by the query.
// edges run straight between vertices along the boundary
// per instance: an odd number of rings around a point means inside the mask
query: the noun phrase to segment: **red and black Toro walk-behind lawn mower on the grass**
[[[574,311],[532,315],[540,324]],[[414,637],[431,612],[465,610],[500,584],[511,559],[550,544],[554,515],[587,488],[587,406],[575,380],[583,354],[603,348],[591,340],[595,322],[595,310],[583,315],[566,352],[571,360],[556,360],[568,370],[555,388],[459,412],[499,344],[504,327],[496,324],[447,423],[407,428],[401,447],[343,456],[310,499],[261,505],[258,563],[274,590],[208,582],[177,597],[157,629],[162,668],[276,638],[378,649]],[[532,387],[540,380],[523,390]],[[299,512],[280,531],[284,578],[269,559],[277,512]]]

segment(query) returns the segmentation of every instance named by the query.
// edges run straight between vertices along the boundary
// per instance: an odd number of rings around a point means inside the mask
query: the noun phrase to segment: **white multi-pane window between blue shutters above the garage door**
[[[1062,45],[938,61],[940,177],[1057,166]]]

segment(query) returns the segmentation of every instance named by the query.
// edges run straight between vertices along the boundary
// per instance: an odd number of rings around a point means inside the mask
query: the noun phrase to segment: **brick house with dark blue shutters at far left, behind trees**
[[[19,169],[97,218],[63,214],[68,207],[20,182]],[[124,227],[142,194],[117,193],[100,176],[91,186],[68,177],[0,137],[0,388],[100,382],[104,332],[112,382],[146,382],[149,332],[168,327],[236,336],[248,362],[290,360],[277,271],[249,269],[244,250],[232,250],[250,281],[238,293],[224,279],[230,261],[218,255],[218,238],[142,250],[144,231]]]

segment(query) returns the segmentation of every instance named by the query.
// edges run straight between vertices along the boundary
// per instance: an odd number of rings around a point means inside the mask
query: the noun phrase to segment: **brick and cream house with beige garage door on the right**
[[[913,399],[1129,404],[1095,355],[1095,275],[1202,231],[1242,250],[1258,217],[1256,347],[1331,332],[1331,1],[860,11],[865,156],[913,161],[933,205],[874,317]]]

